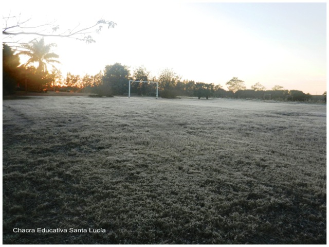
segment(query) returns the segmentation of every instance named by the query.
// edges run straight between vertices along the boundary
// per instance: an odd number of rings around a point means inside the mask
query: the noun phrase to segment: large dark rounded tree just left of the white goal
[[[106,65],[102,79],[103,91],[106,95],[123,95],[128,92],[128,82],[130,79],[130,70],[126,65],[115,63]]]

